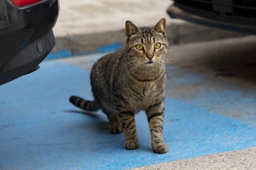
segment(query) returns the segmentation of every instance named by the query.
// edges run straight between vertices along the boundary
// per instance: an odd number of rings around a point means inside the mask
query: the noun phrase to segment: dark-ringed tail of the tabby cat
[[[82,110],[92,112],[100,110],[100,107],[96,101],[88,101],[86,99],[83,99],[82,97],[77,97],[74,95],[69,97],[69,101],[78,108],[81,108]]]

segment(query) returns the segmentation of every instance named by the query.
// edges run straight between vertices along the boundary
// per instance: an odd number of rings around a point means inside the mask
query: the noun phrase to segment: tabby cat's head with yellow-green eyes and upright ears
[[[166,20],[164,18],[152,28],[138,28],[130,21],[125,23],[127,56],[140,65],[152,66],[164,62],[168,51]]]

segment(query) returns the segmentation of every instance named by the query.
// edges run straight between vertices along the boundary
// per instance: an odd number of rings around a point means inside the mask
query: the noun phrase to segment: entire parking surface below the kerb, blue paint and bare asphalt
[[[255,45],[247,36],[170,46],[163,155],[143,112],[141,147],[127,151],[104,114],[69,103],[92,99],[90,68],[103,54],[42,62],[0,87],[0,169],[255,169]]]

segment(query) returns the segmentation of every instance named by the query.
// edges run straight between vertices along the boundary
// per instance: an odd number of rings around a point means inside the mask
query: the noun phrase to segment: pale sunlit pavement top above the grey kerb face
[[[152,23],[158,22],[162,17],[170,22],[166,9],[171,3],[169,0],[61,0],[61,11],[54,28],[55,36],[121,30],[127,20],[139,26],[152,26]]]

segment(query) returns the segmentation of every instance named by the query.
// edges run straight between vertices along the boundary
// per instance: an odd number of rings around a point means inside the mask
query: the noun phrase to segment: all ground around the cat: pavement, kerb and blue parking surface
[[[53,52],[38,71],[0,87],[0,169],[256,169],[255,36],[169,19],[168,5],[61,0]],[[126,20],[152,26],[162,17],[172,62],[169,152],[152,152],[143,112],[136,115],[140,148],[127,151],[102,112],[82,112],[68,99],[92,99],[90,69],[123,48]]]

